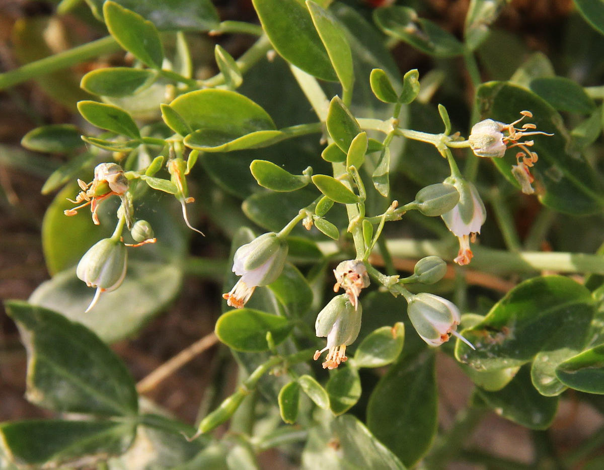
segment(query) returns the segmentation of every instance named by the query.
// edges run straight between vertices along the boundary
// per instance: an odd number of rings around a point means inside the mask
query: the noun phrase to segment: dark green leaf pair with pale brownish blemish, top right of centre
[[[373,19],[384,33],[435,57],[463,54],[463,44],[432,21],[419,18],[413,8],[384,7],[373,11]]]

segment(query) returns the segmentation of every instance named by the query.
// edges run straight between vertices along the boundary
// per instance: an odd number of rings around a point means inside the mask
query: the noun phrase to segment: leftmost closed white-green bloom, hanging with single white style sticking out
[[[126,276],[127,258],[124,243],[111,238],[95,243],[82,256],[76,268],[76,275],[88,287],[97,288],[86,312],[94,307],[101,293],[115,291],[120,287]]]

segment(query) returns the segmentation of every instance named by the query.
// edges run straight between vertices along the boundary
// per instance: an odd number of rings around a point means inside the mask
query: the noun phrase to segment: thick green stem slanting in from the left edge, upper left
[[[54,54],[54,56],[44,57],[44,59],[27,63],[17,69],[0,74],[0,90],[119,49],[120,45],[115,39],[112,36],[107,36],[71,48],[68,51]]]

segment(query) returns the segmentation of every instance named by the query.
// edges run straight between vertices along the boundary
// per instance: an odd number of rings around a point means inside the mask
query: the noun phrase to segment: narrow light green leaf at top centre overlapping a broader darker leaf
[[[319,33],[319,37],[327,50],[327,55],[342,84],[342,88],[352,90],[355,82],[352,53],[338,19],[312,0],[306,0],[306,6],[310,11],[310,17],[315,24],[316,32]]]

